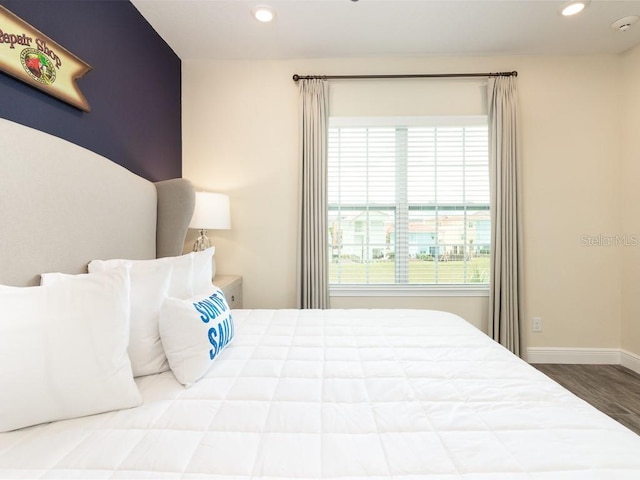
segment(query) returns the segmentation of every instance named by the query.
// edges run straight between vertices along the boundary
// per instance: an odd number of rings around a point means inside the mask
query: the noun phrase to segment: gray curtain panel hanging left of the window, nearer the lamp
[[[299,80],[298,308],[329,308],[327,243],[327,129],[324,80]]]

